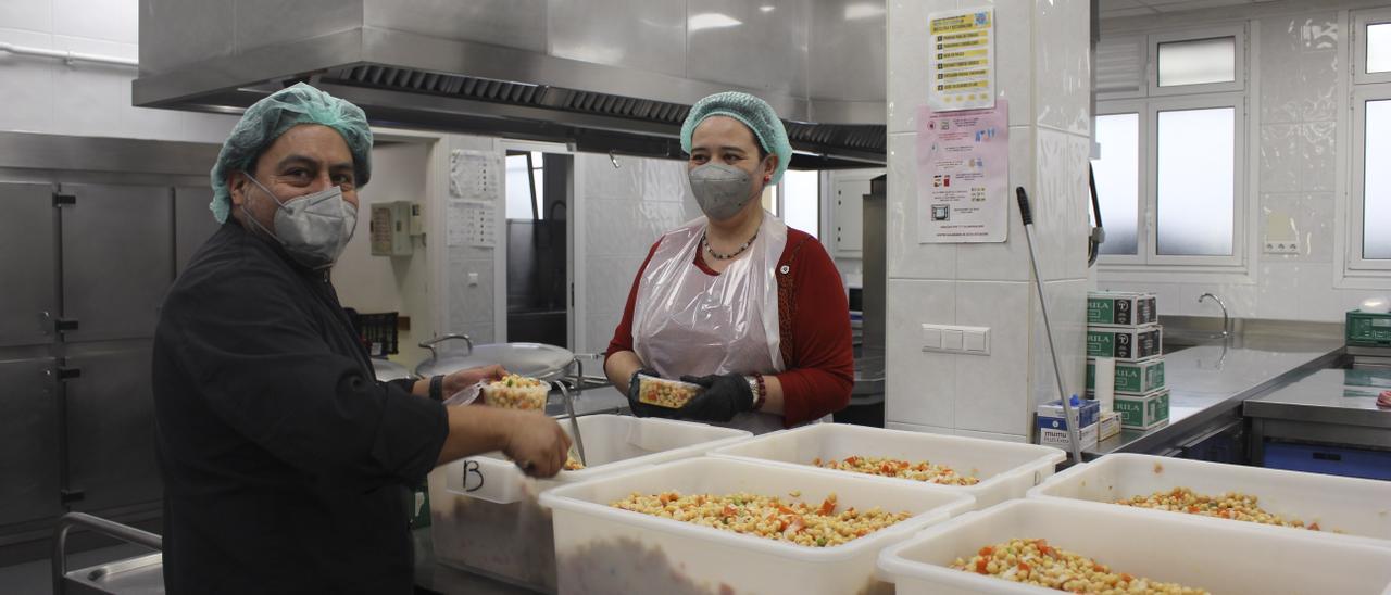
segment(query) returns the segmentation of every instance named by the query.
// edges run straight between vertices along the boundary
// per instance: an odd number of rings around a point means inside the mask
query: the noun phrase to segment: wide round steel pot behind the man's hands
[[[463,341],[465,350],[437,348],[445,341]],[[554,381],[565,375],[574,361],[569,349],[545,343],[487,343],[473,345],[469,335],[448,334],[420,342],[430,350],[430,357],[416,366],[416,375],[430,378],[437,374],[451,374],[480,366],[499,364],[512,374]]]

